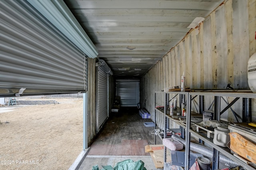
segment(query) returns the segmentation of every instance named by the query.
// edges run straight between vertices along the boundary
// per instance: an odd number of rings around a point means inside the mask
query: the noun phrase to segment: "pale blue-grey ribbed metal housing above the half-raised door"
[[[88,57],[97,57],[98,50],[63,1],[27,1]]]

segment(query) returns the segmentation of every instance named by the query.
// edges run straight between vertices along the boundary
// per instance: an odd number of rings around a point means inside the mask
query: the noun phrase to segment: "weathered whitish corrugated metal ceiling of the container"
[[[223,0],[64,0],[116,78],[140,78]]]

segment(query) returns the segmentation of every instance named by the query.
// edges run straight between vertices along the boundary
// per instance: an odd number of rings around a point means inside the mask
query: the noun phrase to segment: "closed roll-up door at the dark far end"
[[[121,106],[137,106],[140,102],[140,81],[116,81],[116,96]]]

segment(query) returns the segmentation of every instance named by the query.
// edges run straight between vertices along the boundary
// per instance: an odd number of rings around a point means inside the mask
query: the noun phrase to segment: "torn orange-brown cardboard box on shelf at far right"
[[[229,134],[230,149],[246,160],[256,163],[256,144],[236,132]]]

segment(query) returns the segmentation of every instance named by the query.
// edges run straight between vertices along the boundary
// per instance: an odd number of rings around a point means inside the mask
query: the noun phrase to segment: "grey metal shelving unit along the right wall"
[[[159,93],[159,92],[158,92]],[[190,160],[190,136],[191,134],[193,136],[196,136],[199,138],[199,142],[204,141],[205,143],[208,144],[208,146],[213,148],[213,163],[212,163],[212,169],[218,169],[218,159],[219,159],[219,152],[227,156],[228,158],[231,158],[235,162],[237,162],[240,166],[248,169],[248,170],[256,170],[253,166],[250,164],[246,164],[239,158],[235,157],[233,154],[230,153],[230,150],[228,148],[224,148],[218,145],[215,145],[213,143],[213,140],[210,138],[207,138],[207,135],[204,133],[196,132],[192,129],[191,127],[191,102],[192,100],[196,97],[199,96],[200,99],[200,113],[204,110],[204,96],[214,96],[214,113],[216,115],[215,119],[220,120],[220,115],[224,113],[227,109],[231,108],[236,101],[238,101],[239,98],[243,99],[243,121],[244,122],[250,122],[250,116],[251,116],[251,99],[255,98],[256,99],[256,93],[249,92],[248,90],[240,90],[240,91],[192,91],[192,92],[160,92],[164,93],[164,100],[165,100],[165,105],[164,105],[164,112],[160,111],[158,109],[155,109],[155,122],[156,122],[156,111],[159,111],[160,113],[165,115],[165,121],[164,121],[164,138],[166,138],[166,129],[169,128],[169,120],[174,121],[178,125],[180,125],[181,129],[184,130],[184,136],[186,140],[186,149],[185,149],[185,170],[189,169],[189,160]],[[180,94],[180,95],[185,95],[186,96],[186,125],[179,123],[176,121],[173,117],[168,115],[167,108],[169,106],[169,94]],[[192,98],[192,96],[195,96]],[[155,96],[156,97],[156,96]],[[220,110],[220,101],[221,97],[234,97],[235,99],[229,103],[222,111]],[[156,103],[156,98],[155,98],[155,103]],[[181,130],[181,131],[182,131]],[[166,147],[164,148],[164,162],[166,162]]]

